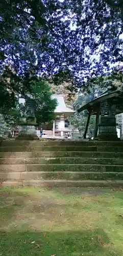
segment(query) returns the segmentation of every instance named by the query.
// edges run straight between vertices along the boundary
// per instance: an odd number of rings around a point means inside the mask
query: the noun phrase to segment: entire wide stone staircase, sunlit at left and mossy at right
[[[1,186],[122,186],[123,142],[3,140]]]

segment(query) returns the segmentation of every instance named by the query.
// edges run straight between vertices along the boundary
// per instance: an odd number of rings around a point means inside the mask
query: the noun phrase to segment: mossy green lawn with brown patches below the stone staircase
[[[0,189],[1,256],[122,256],[123,191]]]

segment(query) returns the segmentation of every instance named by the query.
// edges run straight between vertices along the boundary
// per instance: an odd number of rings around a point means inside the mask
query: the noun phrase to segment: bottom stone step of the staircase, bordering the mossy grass
[[[3,181],[2,187],[39,186],[44,188],[52,187],[121,187],[122,180],[11,180]]]

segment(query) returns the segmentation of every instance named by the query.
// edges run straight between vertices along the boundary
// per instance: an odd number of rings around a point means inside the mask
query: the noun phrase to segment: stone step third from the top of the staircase
[[[83,151],[58,151],[58,152],[0,152],[1,158],[34,158],[34,157],[81,157],[81,158],[122,158],[123,152],[83,152]]]

